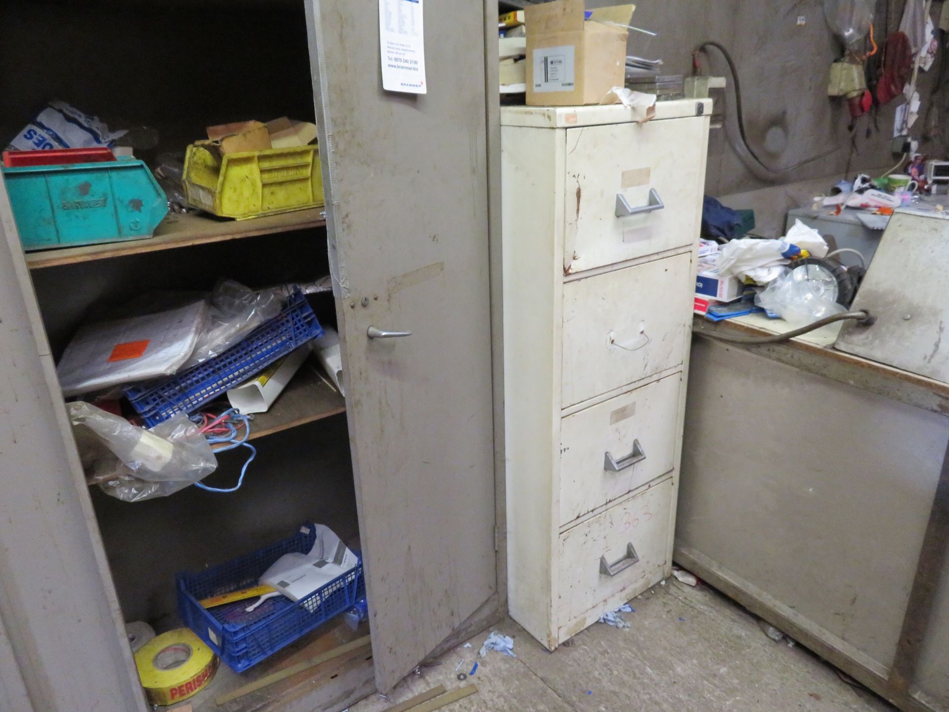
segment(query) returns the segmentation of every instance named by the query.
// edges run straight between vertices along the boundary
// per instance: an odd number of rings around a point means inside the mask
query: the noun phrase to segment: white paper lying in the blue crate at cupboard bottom
[[[309,553],[285,553],[264,571],[260,583],[279,590],[291,601],[299,601],[359,563],[339,536],[325,524],[316,528],[316,541]]]

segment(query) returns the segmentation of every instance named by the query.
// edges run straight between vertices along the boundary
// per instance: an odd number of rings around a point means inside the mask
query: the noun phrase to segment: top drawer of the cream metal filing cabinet
[[[564,272],[692,244],[707,131],[707,117],[568,129]]]

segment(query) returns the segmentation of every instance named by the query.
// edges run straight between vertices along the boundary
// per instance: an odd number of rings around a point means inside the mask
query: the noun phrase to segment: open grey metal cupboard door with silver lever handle
[[[378,0],[307,20],[385,690],[497,590],[485,7],[424,0],[424,95],[382,89]]]

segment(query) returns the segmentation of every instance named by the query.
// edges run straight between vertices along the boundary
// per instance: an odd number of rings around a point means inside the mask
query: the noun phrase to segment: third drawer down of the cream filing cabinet
[[[680,373],[591,405],[560,427],[560,526],[675,466]]]

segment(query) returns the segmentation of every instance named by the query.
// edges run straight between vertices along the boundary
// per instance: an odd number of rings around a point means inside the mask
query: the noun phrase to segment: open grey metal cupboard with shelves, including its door
[[[57,96],[156,127],[159,152],[213,123],[286,114],[319,125],[326,217],[170,215],[153,238],[25,254],[0,177],[0,712],[145,712],[123,623],[177,628],[176,571],[305,521],[362,550],[372,656],[214,703],[307,649],[291,646],[242,674],[220,665],[188,702],[338,712],[507,609],[497,3],[425,4],[424,95],[383,91],[364,3],[108,6],[105,27],[80,5],[0,3],[0,54],[23,60],[0,63],[4,142]],[[233,51],[238,36],[254,51]],[[166,61],[171,37],[183,65]],[[239,491],[125,503],[86,486],[54,362],[87,312],[219,277],[256,288],[326,274],[334,291],[310,300],[340,332],[345,397],[304,365],[252,423]],[[243,461],[221,455],[209,483],[232,486]]]

